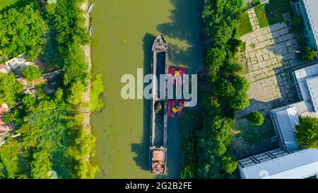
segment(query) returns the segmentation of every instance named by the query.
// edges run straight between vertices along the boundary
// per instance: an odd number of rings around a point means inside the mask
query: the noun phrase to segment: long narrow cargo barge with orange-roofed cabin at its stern
[[[169,68],[168,46],[163,35],[153,42],[151,72],[158,81],[153,81],[150,124],[150,170],[153,174],[165,174],[167,167],[167,80],[164,81],[165,95],[160,92],[160,75],[167,75]],[[155,78],[153,78],[155,80]]]

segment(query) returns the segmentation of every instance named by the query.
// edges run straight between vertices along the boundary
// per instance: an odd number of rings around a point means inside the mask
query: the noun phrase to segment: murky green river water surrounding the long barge
[[[167,175],[148,171],[148,101],[123,100],[123,74],[138,68],[150,72],[151,45],[165,35],[170,46],[170,65],[185,66],[188,73],[201,67],[199,0],[96,0],[91,13],[93,74],[105,81],[105,110],[92,115],[98,136],[98,178],[179,178],[179,122],[168,122]]]

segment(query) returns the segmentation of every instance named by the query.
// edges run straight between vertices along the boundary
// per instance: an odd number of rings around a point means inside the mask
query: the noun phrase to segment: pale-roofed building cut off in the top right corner
[[[302,17],[304,35],[308,45],[318,51],[318,1],[300,0],[295,3],[295,12]]]

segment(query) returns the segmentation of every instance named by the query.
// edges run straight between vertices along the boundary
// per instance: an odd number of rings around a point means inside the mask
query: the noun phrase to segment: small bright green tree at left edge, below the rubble
[[[14,74],[0,74],[0,103],[12,106],[22,91],[23,86],[16,81]]]

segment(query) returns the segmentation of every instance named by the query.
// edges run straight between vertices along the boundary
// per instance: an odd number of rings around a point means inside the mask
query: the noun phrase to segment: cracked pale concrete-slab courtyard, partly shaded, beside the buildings
[[[295,53],[300,46],[291,25],[284,22],[260,28],[255,9],[247,13],[253,32],[241,38],[246,46],[245,53],[240,54],[240,62],[245,64],[245,77],[251,83],[250,106],[237,112],[238,117],[254,110],[267,115],[273,108],[298,101],[291,73],[304,63]],[[284,18],[291,23],[289,14]]]

